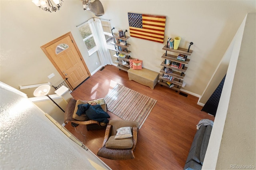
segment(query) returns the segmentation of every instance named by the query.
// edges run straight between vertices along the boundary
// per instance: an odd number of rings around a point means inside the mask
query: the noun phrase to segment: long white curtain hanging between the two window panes
[[[94,21],[95,20],[95,21]],[[94,40],[96,46],[98,47],[98,54],[100,58],[101,65],[108,65],[113,64],[110,52],[107,48],[107,43],[105,39],[105,35],[102,29],[102,24],[100,19],[98,18],[91,18],[88,20],[90,29],[92,31],[92,35],[94,36]]]

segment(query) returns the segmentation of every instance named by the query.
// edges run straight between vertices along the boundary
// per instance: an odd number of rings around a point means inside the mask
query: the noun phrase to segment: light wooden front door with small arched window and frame
[[[41,49],[63,79],[68,78],[73,89],[91,76],[70,32],[43,45]]]

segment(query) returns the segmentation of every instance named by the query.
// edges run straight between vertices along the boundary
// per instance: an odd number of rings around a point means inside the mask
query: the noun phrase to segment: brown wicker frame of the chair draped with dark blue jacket
[[[102,125],[102,123],[98,121],[77,121],[76,119],[73,119],[73,113],[76,106],[76,100],[70,99],[68,101],[66,111],[64,113],[64,123],[67,124],[68,122],[75,123],[78,125],[86,125],[87,130],[95,130],[95,129],[102,129],[106,128],[106,124]]]

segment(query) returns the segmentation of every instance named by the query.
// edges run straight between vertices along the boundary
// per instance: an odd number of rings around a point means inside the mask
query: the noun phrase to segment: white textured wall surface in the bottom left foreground
[[[1,82],[0,93],[1,169],[109,169],[68,138],[27,97],[2,88]]]

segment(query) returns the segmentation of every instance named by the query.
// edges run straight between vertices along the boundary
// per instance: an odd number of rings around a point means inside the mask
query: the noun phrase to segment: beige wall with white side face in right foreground
[[[256,168],[255,30],[256,14],[248,14],[234,42],[203,169]]]

